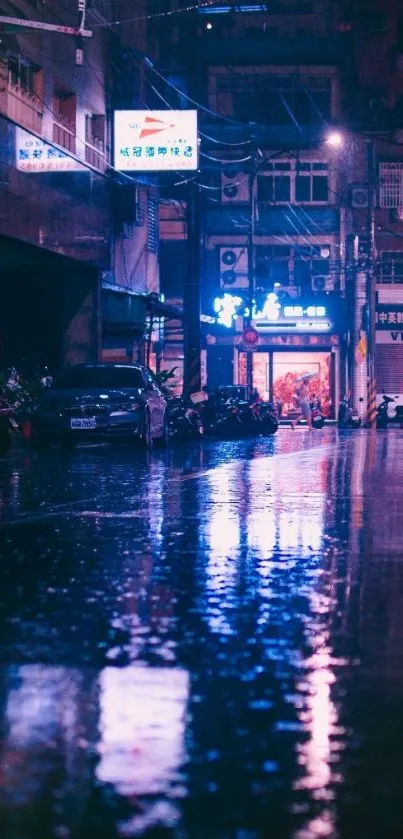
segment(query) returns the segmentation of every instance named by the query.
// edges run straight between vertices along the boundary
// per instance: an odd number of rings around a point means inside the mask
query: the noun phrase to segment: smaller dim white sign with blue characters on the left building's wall
[[[15,130],[16,166],[20,172],[81,172],[85,167],[34,134]]]

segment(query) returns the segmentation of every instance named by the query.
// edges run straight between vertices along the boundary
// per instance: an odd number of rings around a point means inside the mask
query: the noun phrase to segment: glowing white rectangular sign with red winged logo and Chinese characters
[[[115,111],[114,127],[115,169],[197,169],[197,111]]]

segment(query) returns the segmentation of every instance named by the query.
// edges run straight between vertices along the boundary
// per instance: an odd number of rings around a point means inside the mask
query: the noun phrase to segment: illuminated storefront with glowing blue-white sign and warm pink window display
[[[246,384],[248,350],[243,343],[244,317],[249,316],[240,296],[225,294],[214,301],[216,326],[206,335],[209,387]],[[254,386],[263,399],[282,403],[283,413],[292,412],[297,379],[315,374],[311,395],[320,398],[329,417],[335,417],[344,385],[346,342],[343,302],[337,311],[329,297],[282,302],[268,294],[252,311],[252,326],[258,333],[253,348]],[[346,330],[347,331],[347,330]]]

